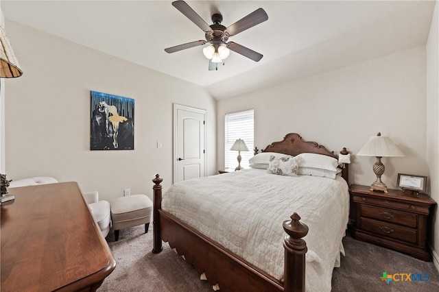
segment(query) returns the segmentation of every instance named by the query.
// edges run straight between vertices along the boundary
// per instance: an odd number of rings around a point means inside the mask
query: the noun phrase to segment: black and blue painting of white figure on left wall
[[[90,96],[90,149],[134,149],[134,99],[97,91]]]

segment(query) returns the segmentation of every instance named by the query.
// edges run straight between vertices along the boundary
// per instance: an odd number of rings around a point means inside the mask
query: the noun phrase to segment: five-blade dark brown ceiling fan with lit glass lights
[[[182,45],[175,47],[169,47],[165,49],[167,53],[175,53],[176,51],[181,51],[183,49],[189,49],[191,47],[197,47],[210,43],[211,46],[205,47],[203,49],[204,56],[209,59],[209,70],[217,70],[217,64],[223,62],[225,58],[228,57],[231,51],[241,54],[255,62],[262,59],[263,55],[252,49],[248,49],[243,45],[239,45],[236,42],[227,42],[230,36],[235,36],[244,30],[254,27],[259,23],[263,23],[268,20],[268,15],[262,8],[254,10],[254,12],[248,14],[239,21],[233,23],[228,27],[221,24],[222,15],[213,14],[212,15],[212,25],[208,25],[200,15],[198,15],[193,9],[187,5],[185,1],[174,1],[172,5],[178,9],[182,14],[191,20],[195,25],[200,27],[204,31],[206,40],[195,40],[194,42],[187,42]]]

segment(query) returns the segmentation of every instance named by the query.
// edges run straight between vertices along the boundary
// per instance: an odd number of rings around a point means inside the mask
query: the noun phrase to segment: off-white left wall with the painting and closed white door
[[[172,182],[173,103],[207,111],[207,174],[216,166],[216,101],[195,84],[9,22],[23,76],[6,80],[8,178],[77,181],[101,199],[152,195],[152,178]],[[134,150],[90,151],[90,90],[135,99]],[[161,141],[163,148],[156,148]]]

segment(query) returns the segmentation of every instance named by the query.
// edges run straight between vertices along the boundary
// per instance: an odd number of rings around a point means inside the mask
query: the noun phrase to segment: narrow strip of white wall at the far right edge
[[[439,3],[436,1],[427,42],[427,161],[431,197],[439,202]],[[439,224],[434,217],[434,263],[439,270]]]

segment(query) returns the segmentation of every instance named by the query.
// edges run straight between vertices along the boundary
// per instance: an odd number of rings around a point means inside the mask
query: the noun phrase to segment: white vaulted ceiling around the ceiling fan
[[[166,53],[167,47],[204,39],[204,32],[171,1],[0,2],[9,21],[193,82],[216,99],[425,45],[435,5],[435,1],[187,3],[209,25],[213,13],[222,14],[226,27],[263,8],[268,21],[230,38],[262,53],[262,60],[231,52],[224,66],[208,71],[202,47]]]

